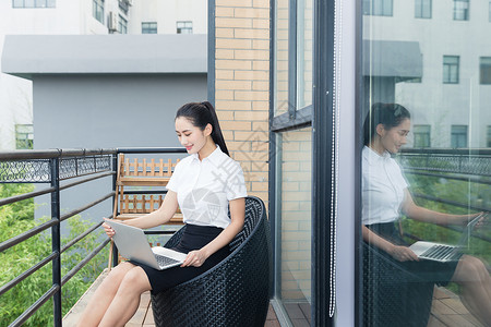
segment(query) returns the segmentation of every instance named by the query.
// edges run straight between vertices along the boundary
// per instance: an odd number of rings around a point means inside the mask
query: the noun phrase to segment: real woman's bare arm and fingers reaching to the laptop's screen
[[[172,216],[176,214],[177,208],[178,208],[177,193],[169,190],[167,191],[167,194],[164,197],[161,206],[157,210],[134,219],[124,220],[124,223],[141,229],[156,227],[169,221],[170,218],[172,218]],[[103,227],[106,230],[108,237],[112,237],[115,234],[115,231],[109,225],[103,223]]]

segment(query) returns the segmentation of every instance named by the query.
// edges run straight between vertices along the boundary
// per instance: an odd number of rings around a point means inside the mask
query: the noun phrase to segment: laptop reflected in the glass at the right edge
[[[488,213],[480,214],[467,223],[466,228],[464,228],[462,232],[462,237],[457,245],[418,241],[409,246],[409,249],[412,250],[421,259],[435,261],[441,263],[457,261],[459,258],[459,251],[466,246],[467,240],[474,227],[481,218],[486,217]]]

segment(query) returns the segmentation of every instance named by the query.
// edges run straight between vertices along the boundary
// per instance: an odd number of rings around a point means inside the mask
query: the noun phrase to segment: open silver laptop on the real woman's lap
[[[112,240],[123,257],[148,267],[164,270],[181,265],[187,254],[163,246],[151,247],[142,229],[115,220],[107,220],[115,230]]]

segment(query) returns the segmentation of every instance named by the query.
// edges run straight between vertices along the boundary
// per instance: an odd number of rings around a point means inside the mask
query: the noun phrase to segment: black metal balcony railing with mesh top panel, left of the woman
[[[64,276],[61,276],[61,254],[70,247],[74,246],[86,235],[94,232],[103,223],[103,219],[100,219],[100,222],[96,222],[88,230],[75,237],[64,246],[61,246],[60,223],[108,198],[112,198],[112,201],[115,199],[117,155],[122,152],[129,154],[180,154],[185,153],[185,149],[120,148],[0,152],[0,183],[49,183],[49,186],[44,189],[38,189],[25,194],[1,198],[0,206],[13,204],[27,198],[34,198],[40,195],[50,194],[50,220],[41,222],[35,228],[0,243],[0,253],[2,253],[34,235],[51,229],[51,253],[14,279],[0,287],[1,296],[47,264],[52,263],[51,288],[46,291],[27,310],[25,310],[9,326],[21,326],[50,299],[53,300],[53,325],[61,326],[62,287],[109,243],[109,239],[105,239],[100,244],[96,244],[95,249],[91,253],[88,253],[77,265],[75,265]],[[112,177],[112,190],[109,193],[92,201],[88,204],[85,204],[76,209],[61,215],[61,191],[108,177]],[[74,178],[76,178],[76,180],[71,182],[68,181]],[[62,181],[68,182],[61,185],[60,182]],[[111,214],[106,217],[111,217]]]

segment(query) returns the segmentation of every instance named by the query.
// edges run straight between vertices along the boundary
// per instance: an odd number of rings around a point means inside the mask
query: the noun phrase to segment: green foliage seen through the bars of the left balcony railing
[[[0,194],[2,197],[7,197],[29,192],[32,189],[32,185],[24,184],[0,184]],[[41,221],[34,220],[34,203],[32,199],[0,207],[0,240],[8,240],[35,228],[46,220],[48,218],[44,218]],[[80,216],[70,218],[68,223],[70,234],[61,240],[62,246],[92,225],[89,221],[82,220]],[[61,276],[70,271],[99,244],[98,240],[101,232],[100,230],[98,233],[88,234],[61,254]],[[51,233],[49,229],[1,252],[0,261],[3,265],[0,265],[0,284],[5,284],[50,254]],[[103,250],[62,287],[62,315],[74,305],[104,269],[108,259],[107,254],[108,251]],[[0,296],[0,326],[11,324],[45,294],[51,288],[51,263],[49,263],[2,294]],[[49,300],[27,319],[24,326],[52,326],[52,300]]]

